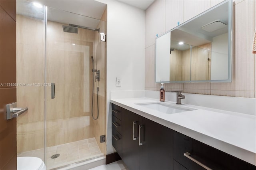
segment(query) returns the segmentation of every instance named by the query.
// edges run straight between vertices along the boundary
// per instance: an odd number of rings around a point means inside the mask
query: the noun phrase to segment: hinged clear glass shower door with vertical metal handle
[[[46,85],[49,86],[46,86],[45,101],[48,168],[104,155],[105,146],[100,144],[99,136],[96,136],[99,131],[96,124],[99,120],[105,121],[105,114],[101,114],[96,121],[91,116],[91,56],[97,61],[95,55],[98,50],[95,46],[99,44],[99,32],[84,28],[69,29],[69,24],[97,28],[100,23],[94,18],[49,7],[47,9]],[[94,84],[99,86],[98,82]],[[103,101],[102,104],[105,104]],[[105,110],[102,109],[102,112]]]

